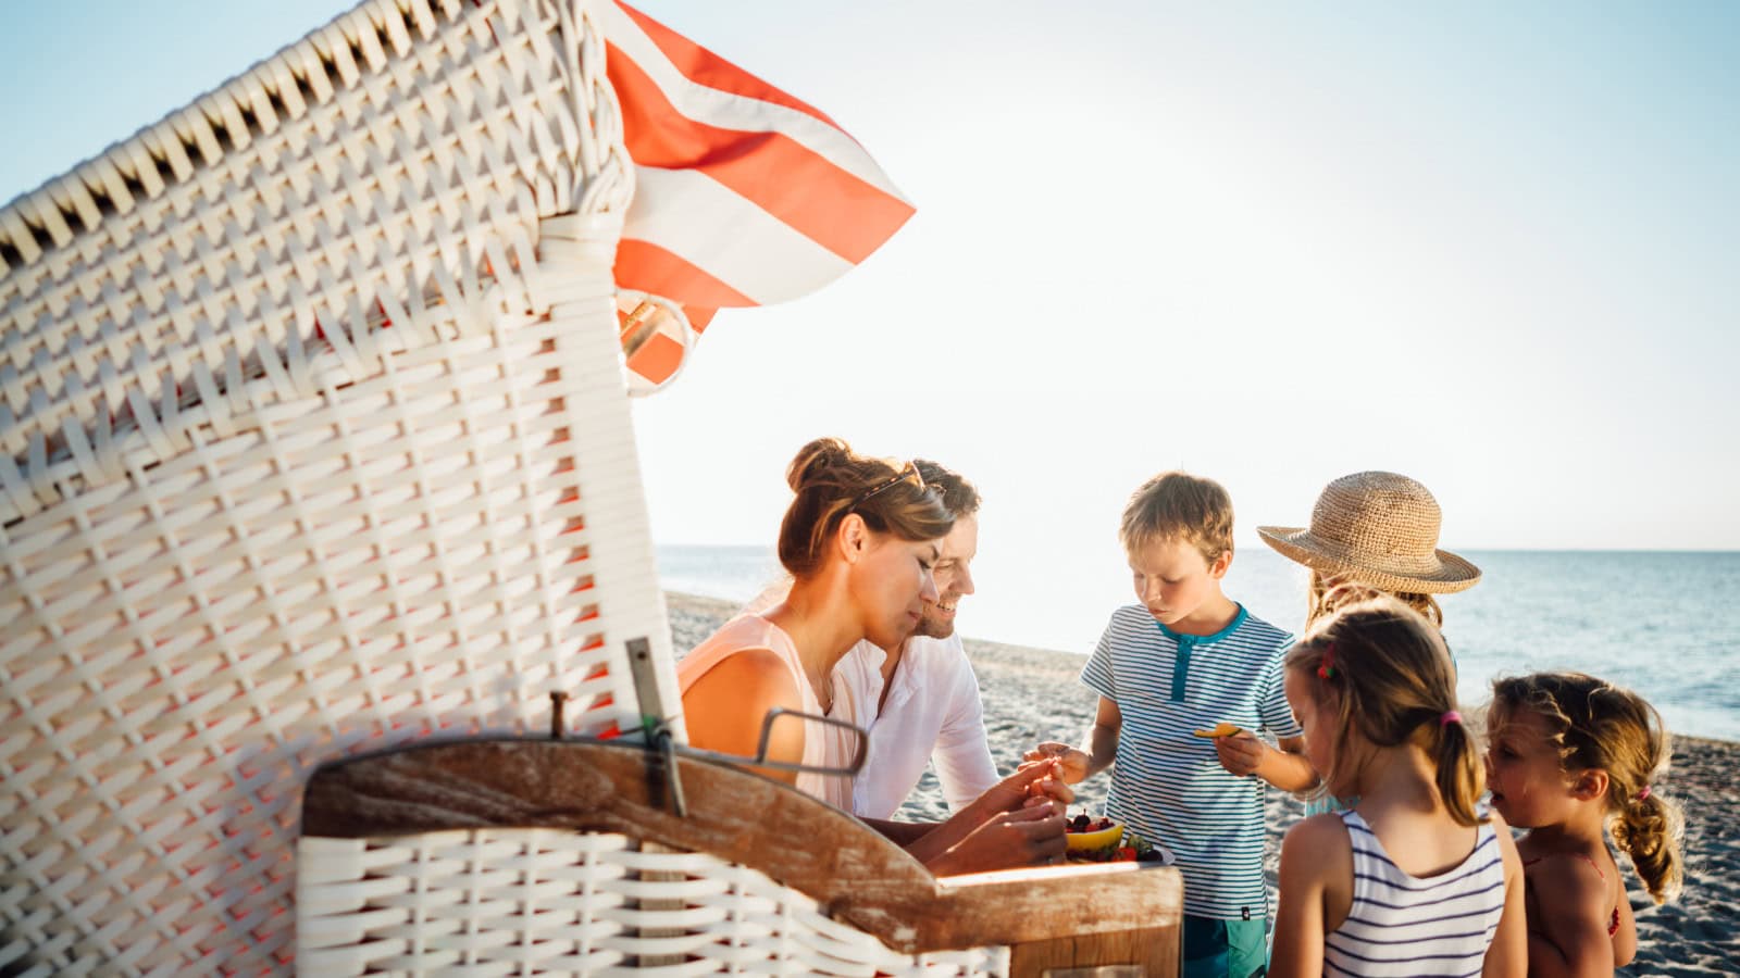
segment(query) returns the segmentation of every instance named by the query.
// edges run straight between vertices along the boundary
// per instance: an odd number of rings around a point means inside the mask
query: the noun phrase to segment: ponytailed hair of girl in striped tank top
[[[1348,593],[1343,593],[1348,592]],[[1355,600],[1352,592],[1359,592]],[[1456,710],[1456,668],[1437,626],[1402,602],[1364,588],[1336,588],[1336,611],[1319,620],[1282,663],[1307,677],[1331,708],[1336,743],[1359,731],[1376,747],[1416,743],[1437,771],[1437,794],[1460,825],[1477,825],[1481,754]],[[1322,785],[1335,783],[1342,750],[1329,752]]]

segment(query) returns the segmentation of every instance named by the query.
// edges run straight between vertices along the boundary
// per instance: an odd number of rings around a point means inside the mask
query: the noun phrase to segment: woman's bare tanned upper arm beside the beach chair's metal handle
[[[771,649],[745,649],[720,660],[682,694],[689,745],[699,750],[755,757],[762,720],[774,707],[802,710],[804,703],[792,682],[792,670]],[[804,722],[797,717],[774,720],[767,734],[767,759],[800,764],[804,760]],[[774,771],[746,764],[750,771],[786,785],[797,783],[795,771]]]

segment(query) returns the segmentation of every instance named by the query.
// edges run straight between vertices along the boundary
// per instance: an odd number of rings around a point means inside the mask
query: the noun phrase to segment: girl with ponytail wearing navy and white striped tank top
[[[1522,865],[1477,807],[1444,639],[1392,597],[1333,597],[1284,689],[1319,790],[1359,800],[1288,832],[1268,973],[1524,975]]]

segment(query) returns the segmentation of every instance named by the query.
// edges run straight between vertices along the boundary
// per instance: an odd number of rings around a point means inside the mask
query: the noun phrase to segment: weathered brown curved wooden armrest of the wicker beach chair
[[[1016,945],[1020,964],[1020,945],[1035,941],[1086,947],[1093,934],[1176,934],[1181,882],[1173,868],[1105,863],[938,879],[851,814],[786,785],[684,755],[677,773],[686,818],[665,804],[663,760],[637,745],[425,743],[320,767],[304,797],[303,832],[619,832],[764,872],[814,898],[832,919],[910,954]],[[1086,964],[1079,954],[1072,962]]]

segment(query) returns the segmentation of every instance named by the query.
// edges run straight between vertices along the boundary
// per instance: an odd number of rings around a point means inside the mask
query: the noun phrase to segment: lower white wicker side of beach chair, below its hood
[[[621,642],[670,651],[633,444],[569,426],[555,331],[405,353],[7,531],[9,941],[270,961],[313,764],[538,729],[550,689],[635,726]]]

